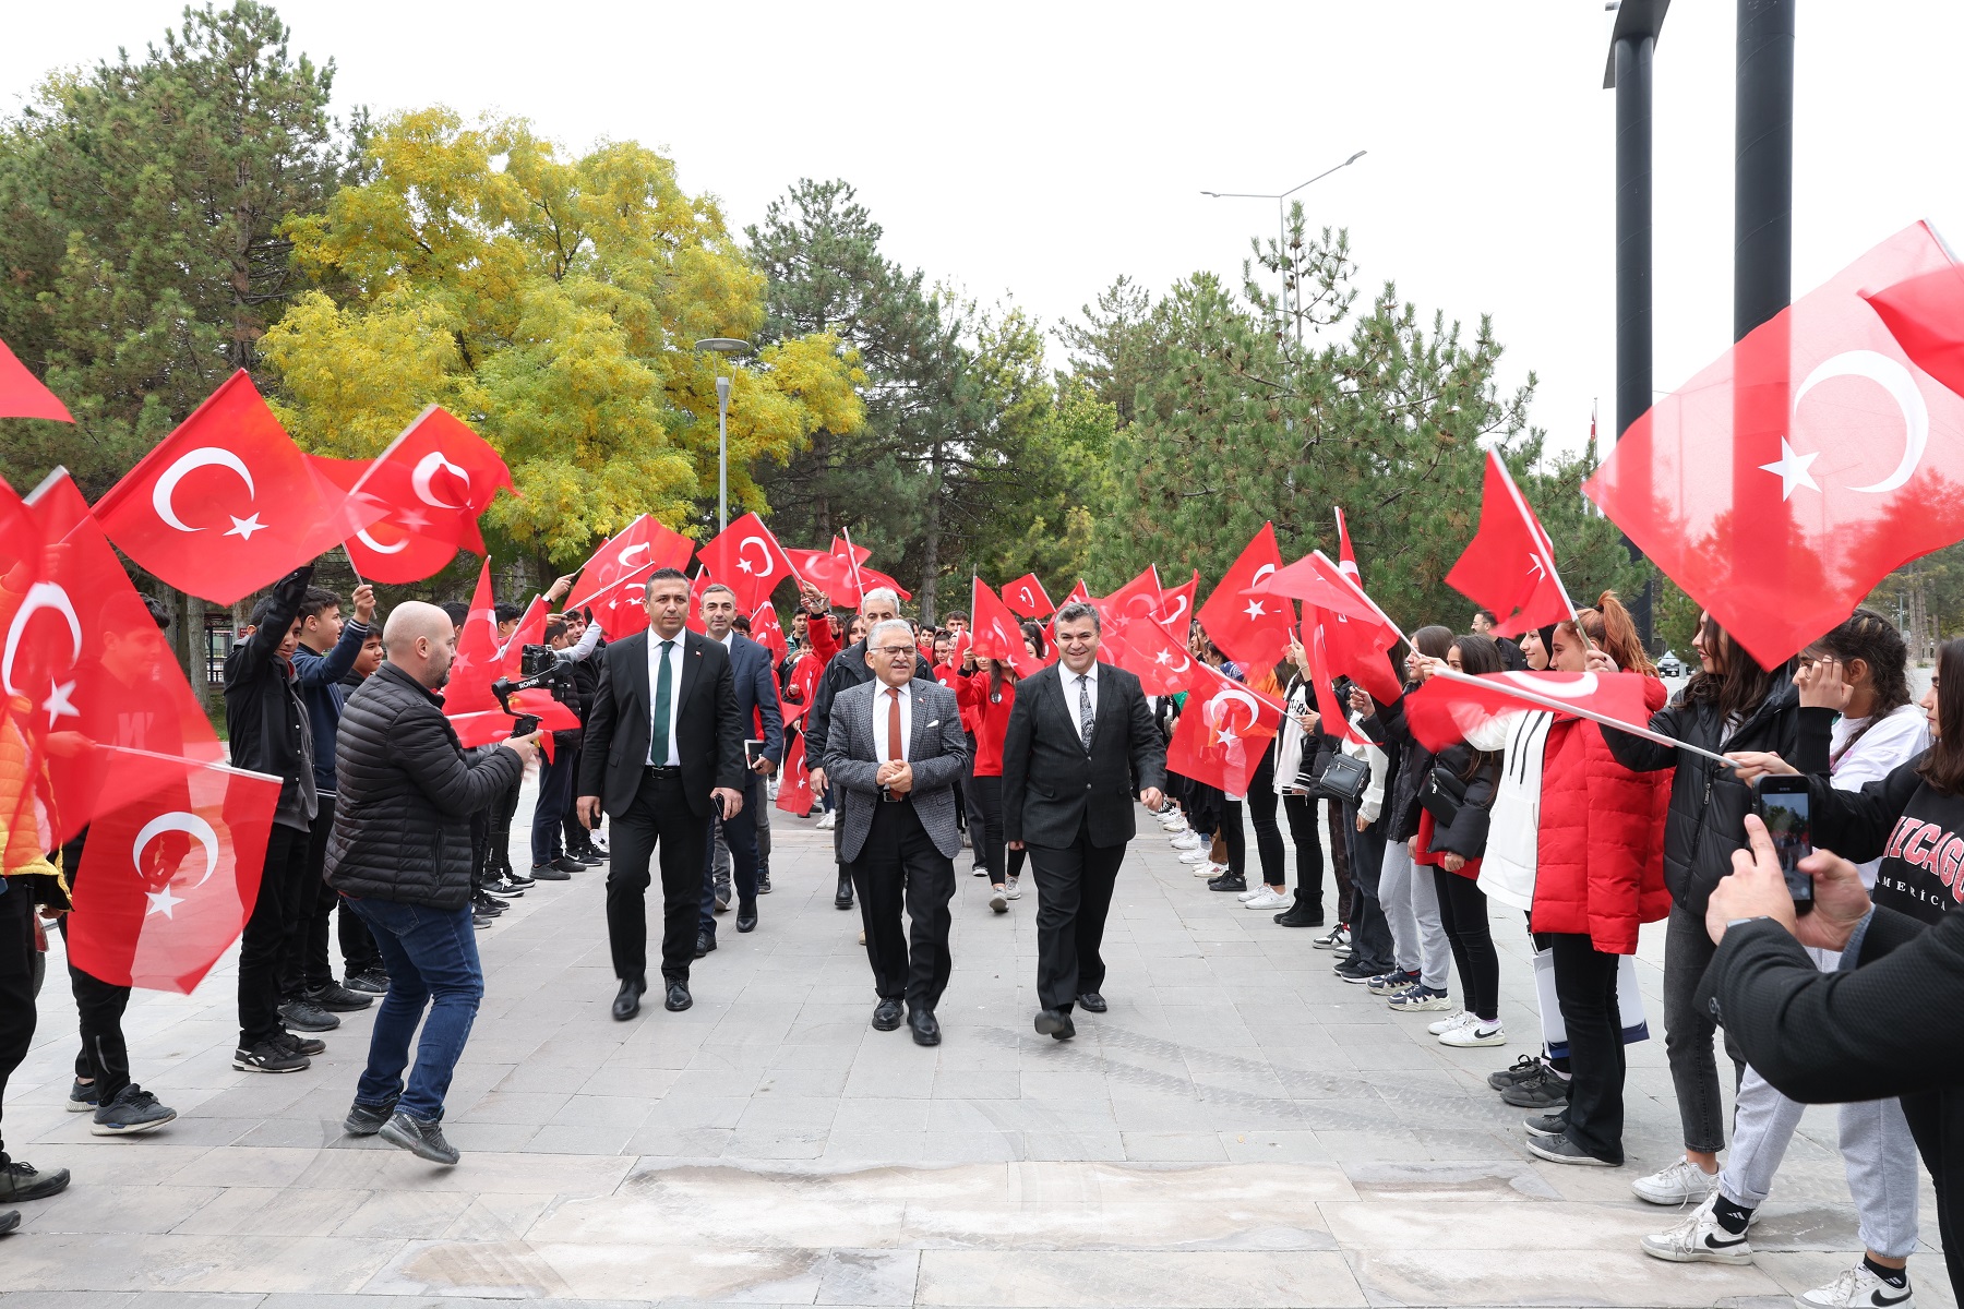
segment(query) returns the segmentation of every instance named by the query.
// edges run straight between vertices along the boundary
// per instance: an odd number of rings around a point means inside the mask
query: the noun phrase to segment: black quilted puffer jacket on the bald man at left
[[[464,750],[444,703],[383,663],[342,707],[342,783],[328,885],[355,899],[462,909],[471,899],[471,814],[524,773],[503,746]]]

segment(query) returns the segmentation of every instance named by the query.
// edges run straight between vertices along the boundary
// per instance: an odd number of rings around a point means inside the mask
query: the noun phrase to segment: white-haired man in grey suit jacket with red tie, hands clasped
[[[880,1005],[872,1024],[907,1026],[921,1046],[941,1044],[935,1005],[949,985],[949,901],[955,899],[955,785],[968,756],[955,693],[915,679],[913,628],[898,618],[866,634],[874,679],[833,701],[825,775],[839,789],[839,854],[858,887]],[[909,948],[900,924],[913,920]]]

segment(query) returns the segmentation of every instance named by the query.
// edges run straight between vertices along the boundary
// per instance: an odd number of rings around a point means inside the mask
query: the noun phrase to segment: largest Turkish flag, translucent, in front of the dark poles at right
[[[1630,424],[1583,487],[1762,665],[1964,536],[1964,398],[1887,326],[1946,269],[1905,228]]]

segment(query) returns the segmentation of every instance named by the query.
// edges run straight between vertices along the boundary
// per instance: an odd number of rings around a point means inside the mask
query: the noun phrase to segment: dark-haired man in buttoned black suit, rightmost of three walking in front
[[[1002,744],[1002,830],[1037,879],[1037,1030],[1068,1040],[1104,1013],[1104,922],[1133,838],[1133,785],[1165,805],[1167,742],[1139,679],[1098,663],[1098,610],[1057,610],[1059,663],[1015,687]]]

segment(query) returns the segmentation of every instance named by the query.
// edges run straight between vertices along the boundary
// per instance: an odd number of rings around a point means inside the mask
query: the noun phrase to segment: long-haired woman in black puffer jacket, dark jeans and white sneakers
[[[1650,730],[1715,754],[1791,756],[1799,744],[1801,701],[1787,671],[1762,667],[1709,612],[1699,614],[1691,648],[1699,671],[1652,714]],[[1597,648],[1589,652],[1589,667],[1616,671],[1616,661]],[[1654,1205],[1701,1205],[1718,1185],[1718,1150],[1724,1148],[1724,1101],[1713,1052],[1718,1028],[1699,1001],[1699,983],[1717,950],[1705,932],[1705,901],[1732,871],[1732,852],[1746,846],[1754,793],[1734,769],[1705,756],[1614,728],[1607,728],[1603,740],[1624,767],[1671,775],[1664,820],[1664,885],[1671,893],[1664,936],[1664,1050],[1677,1089],[1685,1156],[1638,1178],[1630,1189]]]

